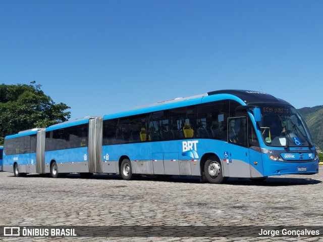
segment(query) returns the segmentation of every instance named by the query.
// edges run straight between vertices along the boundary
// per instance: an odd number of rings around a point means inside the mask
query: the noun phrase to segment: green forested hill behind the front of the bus
[[[305,119],[316,148],[323,149],[323,105],[298,109]]]

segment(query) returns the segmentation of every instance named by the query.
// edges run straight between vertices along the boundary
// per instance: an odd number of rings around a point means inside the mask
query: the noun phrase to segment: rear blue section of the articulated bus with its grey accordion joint
[[[44,129],[35,128],[5,137],[3,169],[15,176],[44,173]]]

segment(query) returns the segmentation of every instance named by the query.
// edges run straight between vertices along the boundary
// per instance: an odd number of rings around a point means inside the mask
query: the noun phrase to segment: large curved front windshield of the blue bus
[[[311,136],[302,116],[291,106],[259,104],[261,136],[267,146],[313,147]]]

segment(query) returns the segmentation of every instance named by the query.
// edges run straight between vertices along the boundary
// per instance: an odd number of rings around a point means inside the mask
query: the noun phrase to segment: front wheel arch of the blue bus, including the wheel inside
[[[228,180],[228,177],[224,176],[223,164],[216,154],[204,154],[201,158],[200,170],[202,179],[209,183],[223,183]]]

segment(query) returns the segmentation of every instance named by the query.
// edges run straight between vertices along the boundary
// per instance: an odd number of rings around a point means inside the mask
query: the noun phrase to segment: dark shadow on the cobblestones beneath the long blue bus
[[[14,177],[14,175],[9,175],[9,177]],[[49,174],[28,174],[27,178],[39,178],[47,177]],[[123,180],[118,174],[93,174],[90,177],[81,177],[78,173],[70,173],[66,176],[60,177],[58,179],[95,179],[95,180]],[[174,182],[174,183],[202,183],[200,178],[197,176],[136,176],[136,181],[155,181],[155,182]],[[229,178],[225,185],[244,185],[244,186],[295,186],[295,185],[313,185],[322,183],[321,180],[311,179],[311,178],[286,178],[286,177],[268,177],[264,181],[251,181],[248,178]],[[207,184],[205,182],[205,184]],[[212,184],[210,184],[212,185]],[[214,184],[223,185],[223,184]]]

